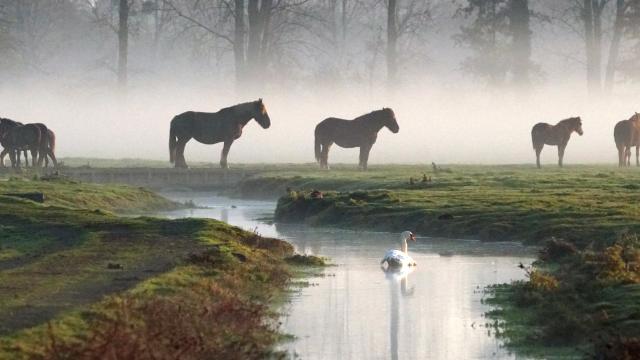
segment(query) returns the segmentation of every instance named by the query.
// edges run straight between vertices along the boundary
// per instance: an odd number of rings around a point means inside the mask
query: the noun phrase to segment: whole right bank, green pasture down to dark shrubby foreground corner
[[[491,326],[508,348],[534,357],[640,356],[635,236],[640,171],[612,166],[420,170],[281,172],[255,178],[246,189],[283,191],[275,215],[281,222],[413,229],[541,246],[539,261],[522,270],[528,280],[495,286],[486,299],[496,307],[488,314]],[[312,195],[314,189],[321,198]]]

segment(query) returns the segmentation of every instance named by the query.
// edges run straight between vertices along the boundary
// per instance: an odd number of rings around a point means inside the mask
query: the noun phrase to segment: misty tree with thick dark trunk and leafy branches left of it
[[[462,62],[464,71],[494,86],[530,84],[536,67],[528,0],[467,0],[456,15],[470,21],[454,37],[472,53]]]

